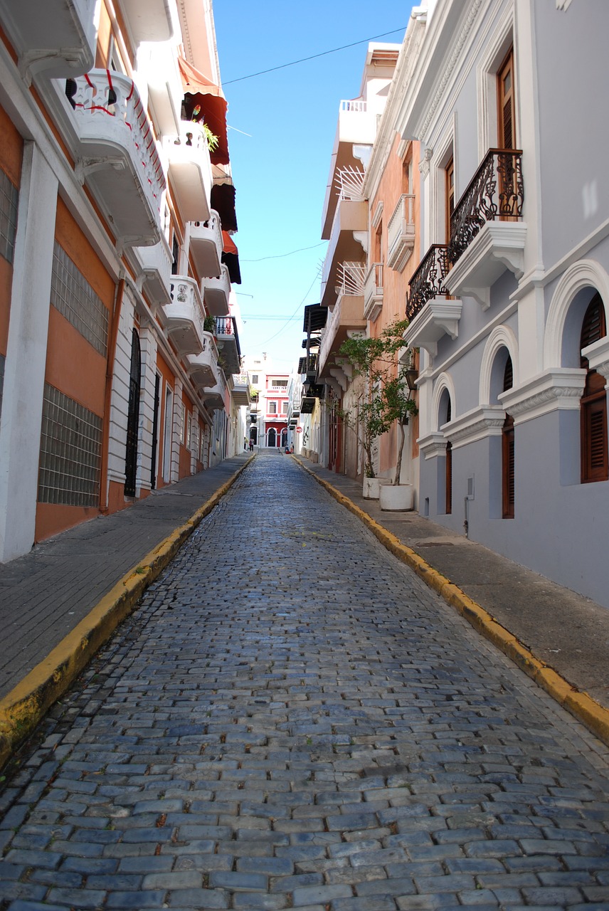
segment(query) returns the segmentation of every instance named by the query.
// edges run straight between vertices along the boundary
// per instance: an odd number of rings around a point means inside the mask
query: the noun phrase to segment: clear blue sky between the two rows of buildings
[[[360,94],[367,43],[232,80],[394,29],[379,40],[401,43],[410,13],[398,0],[214,4],[237,189],[241,351],[267,352],[278,372],[301,355],[304,307],[320,300],[321,210],[339,105]]]

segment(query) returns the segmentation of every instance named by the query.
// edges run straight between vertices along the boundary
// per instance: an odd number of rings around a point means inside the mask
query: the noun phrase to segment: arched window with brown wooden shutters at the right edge
[[[588,304],[582,323],[580,350],[598,342],[607,333],[604,304],[596,293]],[[584,394],[580,404],[582,441],[582,484],[609,479],[607,453],[607,394],[605,378],[590,370],[588,359],[582,355],[581,365],[586,373]]]

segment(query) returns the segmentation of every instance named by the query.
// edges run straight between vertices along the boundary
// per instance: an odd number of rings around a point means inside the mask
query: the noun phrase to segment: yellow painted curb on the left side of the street
[[[176,556],[201,520],[218,505],[252,458],[253,455],[184,525],[176,528],[143,557],[137,567],[129,570],[46,659],[0,700],[0,768],[18,743],[34,731],[46,711],[76,680],[118,624],[131,613],[145,589]]]

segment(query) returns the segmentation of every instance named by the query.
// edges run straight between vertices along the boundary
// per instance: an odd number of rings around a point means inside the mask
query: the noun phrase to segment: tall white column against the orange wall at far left
[[[0,560],[34,544],[57,179],[25,142],[0,422]]]

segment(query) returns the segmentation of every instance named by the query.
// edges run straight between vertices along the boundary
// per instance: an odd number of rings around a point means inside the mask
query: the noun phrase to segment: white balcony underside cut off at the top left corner
[[[0,0],[0,16],[26,77],[68,78],[95,62],[96,0]]]

